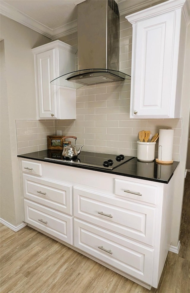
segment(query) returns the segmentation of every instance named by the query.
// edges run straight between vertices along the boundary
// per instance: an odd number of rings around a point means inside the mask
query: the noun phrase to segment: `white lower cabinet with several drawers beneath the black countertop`
[[[33,163],[21,161],[20,168],[34,168]],[[175,176],[164,184],[40,164],[35,175],[22,174],[26,223],[146,288],[157,288],[170,249]]]

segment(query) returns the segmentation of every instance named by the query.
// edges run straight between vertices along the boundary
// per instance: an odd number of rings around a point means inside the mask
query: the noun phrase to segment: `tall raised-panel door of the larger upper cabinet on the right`
[[[172,77],[177,62],[173,49],[174,25],[173,11],[140,21],[133,27],[132,118],[174,118],[171,117],[175,108]]]

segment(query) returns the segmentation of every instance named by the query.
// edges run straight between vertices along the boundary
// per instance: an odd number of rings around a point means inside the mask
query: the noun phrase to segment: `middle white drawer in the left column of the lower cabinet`
[[[72,186],[23,174],[24,197],[72,215]]]

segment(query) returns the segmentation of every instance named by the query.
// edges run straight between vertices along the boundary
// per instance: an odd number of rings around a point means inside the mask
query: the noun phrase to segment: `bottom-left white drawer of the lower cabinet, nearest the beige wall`
[[[27,199],[24,199],[24,212],[26,223],[71,245],[73,244],[72,217]]]

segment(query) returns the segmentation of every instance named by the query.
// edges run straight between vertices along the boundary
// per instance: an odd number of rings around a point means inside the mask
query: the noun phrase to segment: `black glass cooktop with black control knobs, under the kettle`
[[[83,166],[93,166],[95,168],[103,168],[113,170],[118,166],[132,160],[134,157],[124,156],[124,155],[110,155],[94,152],[81,151],[80,155],[74,160],[65,160],[62,156],[62,151],[51,150],[48,153],[46,160],[53,160],[59,162],[65,162],[68,164],[77,164]]]

